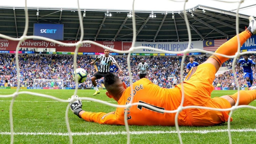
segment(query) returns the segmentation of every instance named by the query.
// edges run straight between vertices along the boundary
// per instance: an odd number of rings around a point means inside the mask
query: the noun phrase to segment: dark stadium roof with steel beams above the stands
[[[24,7],[0,6],[0,33],[10,37],[21,37],[25,27]],[[37,16],[37,11],[39,15]],[[132,18],[129,10],[107,9],[81,10],[84,39],[97,41],[132,41]],[[136,41],[172,42],[188,41],[188,32],[183,10],[135,11]],[[236,35],[236,13],[198,5],[186,9],[192,41],[226,39]],[[192,16],[192,14],[194,16]],[[174,15],[174,17],[173,17]],[[78,10],[74,8],[28,7],[28,36],[33,35],[34,23],[64,24],[64,40],[79,40],[80,26]],[[248,15],[239,14],[239,31],[249,25]]]

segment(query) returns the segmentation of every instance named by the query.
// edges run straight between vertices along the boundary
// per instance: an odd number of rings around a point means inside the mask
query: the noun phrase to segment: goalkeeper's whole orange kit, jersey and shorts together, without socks
[[[215,67],[212,64],[200,64],[188,73],[184,81],[184,105],[196,105],[214,108],[230,108],[230,103],[220,97],[211,98],[213,90],[212,81],[215,77]],[[175,88],[161,88],[150,80],[143,78],[133,83],[133,92],[128,87],[118,101],[119,105],[133,103],[146,103],[163,110],[176,110],[181,102],[181,85]],[[124,125],[125,108],[117,108],[111,113],[84,112],[82,118],[100,124]],[[183,109],[178,116],[181,126],[211,126],[225,123],[229,112],[207,109]],[[133,105],[128,109],[127,120],[129,125],[162,125],[174,126],[175,114],[156,111],[152,108]],[[231,119],[232,121],[232,119]]]

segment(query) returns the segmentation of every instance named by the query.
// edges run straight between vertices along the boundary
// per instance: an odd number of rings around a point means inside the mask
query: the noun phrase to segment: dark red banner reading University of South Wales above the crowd
[[[76,43],[78,41],[61,41],[64,43]],[[121,41],[95,41],[101,45],[107,46],[111,49],[122,50],[122,42]],[[7,39],[0,39],[0,50],[5,51],[15,51],[18,45],[18,41],[12,41]],[[56,51],[62,52],[74,52],[76,47],[67,47],[63,45],[59,45],[57,43],[43,41],[43,40],[25,40],[21,42],[21,48],[56,48]],[[93,45],[91,43],[83,43],[79,48],[78,52],[103,52],[104,49],[102,47]]]

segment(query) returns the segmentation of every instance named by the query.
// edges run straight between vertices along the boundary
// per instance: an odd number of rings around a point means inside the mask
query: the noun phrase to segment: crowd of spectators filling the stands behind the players
[[[117,63],[120,65],[124,74],[119,75],[123,82],[127,86],[130,85],[127,56],[113,56]],[[194,61],[201,64],[208,59],[206,55],[193,56]],[[137,73],[137,65],[140,63],[140,59],[144,58],[145,62],[149,64],[147,78],[153,83],[158,84],[161,87],[172,87],[173,84],[180,83],[180,62],[182,56],[132,56],[131,57],[131,72],[133,82],[139,79]],[[250,58],[255,60],[254,55],[250,55]],[[77,67],[81,67],[87,70],[88,79],[86,82],[79,84],[79,87],[93,87],[90,77],[96,73],[94,65],[89,63],[94,60],[94,56],[78,55]],[[223,63],[223,67],[232,67],[232,60],[229,59]],[[189,62],[189,57],[186,57],[184,63],[184,78],[186,73],[186,64]],[[99,65],[99,63],[96,63]],[[33,87],[34,79],[63,79],[63,87],[74,87],[75,82],[72,79],[73,71],[73,55],[19,55],[19,67],[20,67],[20,80],[22,87]],[[246,80],[243,78],[243,73],[238,72],[236,64],[236,75],[241,87],[247,86]],[[242,69],[242,68],[241,68]],[[254,73],[255,77],[255,73]],[[183,78],[183,79],[184,79]],[[98,80],[99,87],[102,86],[104,79]],[[232,70],[226,71],[223,74],[216,76],[213,85],[217,87],[220,83],[221,87],[236,87],[234,75]],[[255,85],[255,82],[254,84]],[[17,74],[16,74],[16,62],[14,54],[0,54],[0,86],[17,86]],[[45,84],[44,86],[50,87],[52,84]]]

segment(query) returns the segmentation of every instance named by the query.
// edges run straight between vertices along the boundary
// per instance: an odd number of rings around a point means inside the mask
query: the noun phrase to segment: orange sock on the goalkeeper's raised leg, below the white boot
[[[252,33],[249,30],[245,30],[245,31],[241,32],[239,34],[240,45],[242,46],[243,43],[246,42],[246,40],[248,38],[250,38],[251,36],[252,36]],[[237,35],[236,35],[233,38],[231,38],[230,40],[228,40],[227,42],[223,43],[215,51],[215,53],[212,54],[212,56],[210,56],[210,58],[214,58],[219,63],[219,65],[221,66],[221,64],[223,62],[225,62],[226,60],[228,60],[229,58],[222,57],[222,56],[220,56],[216,53],[225,54],[227,56],[232,56],[232,55],[236,54],[237,46],[238,46],[238,40],[237,40]]]

